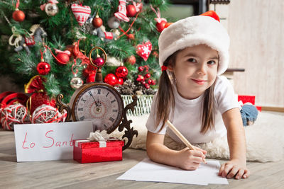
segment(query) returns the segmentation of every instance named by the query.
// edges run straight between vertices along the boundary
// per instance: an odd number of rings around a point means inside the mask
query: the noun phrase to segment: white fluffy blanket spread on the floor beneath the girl
[[[138,137],[134,137],[131,144],[133,149],[146,149],[145,127],[148,115],[129,116],[131,127],[138,130]],[[284,115],[259,113],[253,125],[245,127],[246,132],[246,159],[247,161],[279,161],[284,157]],[[113,134],[121,137],[118,131]],[[164,144],[170,149],[183,149],[184,144],[173,141],[167,135]],[[229,159],[229,147],[226,137],[216,139],[206,144],[195,145],[207,151],[207,158]]]

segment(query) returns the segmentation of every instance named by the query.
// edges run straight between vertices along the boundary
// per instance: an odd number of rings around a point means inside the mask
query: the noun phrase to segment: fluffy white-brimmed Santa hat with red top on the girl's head
[[[229,64],[229,35],[219,21],[214,11],[208,11],[200,16],[191,16],[177,21],[160,34],[159,64],[178,50],[195,45],[207,45],[219,54],[217,74],[223,74]]]

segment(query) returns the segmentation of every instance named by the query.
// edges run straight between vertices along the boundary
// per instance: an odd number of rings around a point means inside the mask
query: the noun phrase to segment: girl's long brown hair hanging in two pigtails
[[[173,53],[173,55],[170,55],[168,59],[165,60],[163,65],[165,67],[168,67],[169,64],[172,64],[175,66],[175,57],[178,54],[179,51]],[[202,103],[202,128],[200,130],[201,133],[206,133],[209,129],[214,129],[214,87],[215,82],[207,88],[207,90],[204,92],[203,97],[203,103]],[[163,122],[162,127],[160,130],[165,127],[165,122],[168,120],[168,117],[170,115],[170,110],[173,110],[175,106],[175,98],[173,95],[173,86],[171,84],[171,81],[169,79],[167,71],[162,71],[162,74],[160,76],[159,81],[159,88],[157,93],[157,101],[155,104],[155,128],[158,127],[160,122]]]

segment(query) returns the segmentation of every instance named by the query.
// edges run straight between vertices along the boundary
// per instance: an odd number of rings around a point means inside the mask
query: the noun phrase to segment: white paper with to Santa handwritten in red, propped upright
[[[14,125],[17,161],[73,159],[73,139],[86,139],[92,121]]]

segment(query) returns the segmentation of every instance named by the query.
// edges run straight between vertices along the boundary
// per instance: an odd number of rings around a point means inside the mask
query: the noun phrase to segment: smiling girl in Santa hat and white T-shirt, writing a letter
[[[162,68],[158,93],[146,123],[147,153],[161,164],[195,170],[205,158],[200,148],[181,151],[163,144],[166,120],[192,144],[211,142],[227,134],[230,160],[219,176],[248,178],[246,139],[239,103],[224,76],[229,63],[229,35],[214,11],[185,18],[165,28],[159,38]]]

